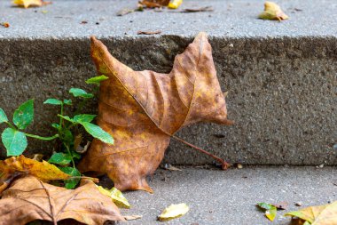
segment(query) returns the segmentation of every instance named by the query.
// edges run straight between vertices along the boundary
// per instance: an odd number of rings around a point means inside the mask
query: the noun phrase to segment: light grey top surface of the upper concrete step
[[[136,0],[128,1],[62,1],[54,0],[42,8],[18,9],[11,1],[1,1],[0,20],[11,28],[1,28],[0,38],[87,38],[137,36],[137,31],[161,30],[161,35],[195,36],[203,30],[211,36],[336,36],[337,2],[277,1],[290,20],[256,20],[263,11],[260,0],[184,0],[181,9],[212,6],[214,12],[178,13],[135,12],[123,17],[115,14],[121,9],[135,7]],[[43,13],[42,11],[47,11]],[[87,24],[82,24],[87,21]],[[99,25],[96,25],[96,23]]]

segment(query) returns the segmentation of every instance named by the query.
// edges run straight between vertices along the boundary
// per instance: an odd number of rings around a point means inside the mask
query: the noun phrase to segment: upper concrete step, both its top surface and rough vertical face
[[[35,98],[37,134],[51,133],[57,108],[50,97],[68,98],[67,90],[91,87],[95,76],[88,36],[104,41],[129,67],[169,72],[177,53],[192,36],[208,32],[232,127],[192,125],[178,136],[231,162],[248,165],[336,165],[337,4],[335,1],[281,1],[291,20],[257,20],[260,1],[184,1],[182,8],[212,5],[214,12],[115,12],[136,1],[54,1],[43,8],[20,9],[1,2],[0,107],[11,115],[21,102]],[[294,8],[302,11],[295,11]],[[42,13],[42,11],[48,11]],[[82,24],[87,20],[87,24]],[[96,25],[99,22],[99,25]],[[137,30],[161,29],[158,36]],[[96,112],[96,101],[86,112]],[[12,115],[11,115],[12,116]],[[29,139],[28,153],[52,145]],[[172,141],[166,162],[211,163]]]

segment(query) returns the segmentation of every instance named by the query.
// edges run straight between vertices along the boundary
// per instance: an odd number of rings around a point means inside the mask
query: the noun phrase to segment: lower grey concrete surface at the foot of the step
[[[273,224],[290,225],[283,214],[310,205],[336,200],[336,168],[325,167],[244,167],[229,171],[183,169],[182,172],[159,170],[150,182],[154,194],[127,192],[132,205],[125,215],[142,215],[127,224],[184,225],[264,225],[270,224],[256,203],[287,202],[288,210],[278,211]],[[302,203],[302,207],[295,203]],[[169,222],[156,221],[161,211],[185,203],[190,212]],[[122,223],[119,223],[122,224]]]

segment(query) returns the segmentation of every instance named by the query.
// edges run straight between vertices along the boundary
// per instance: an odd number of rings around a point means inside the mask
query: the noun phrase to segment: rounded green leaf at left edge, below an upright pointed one
[[[19,156],[27,148],[27,137],[25,133],[12,128],[4,129],[1,135],[4,148],[7,149],[7,157]]]

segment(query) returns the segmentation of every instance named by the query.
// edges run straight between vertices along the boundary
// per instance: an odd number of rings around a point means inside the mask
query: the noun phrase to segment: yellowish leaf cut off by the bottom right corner
[[[310,206],[285,215],[298,217],[300,222],[307,221],[311,225],[335,225],[337,224],[337,201],[329,205]]]

